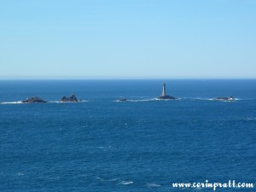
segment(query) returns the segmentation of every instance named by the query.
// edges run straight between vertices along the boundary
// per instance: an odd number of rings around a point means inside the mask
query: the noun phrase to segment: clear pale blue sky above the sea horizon
[[[144,78],[256,78],[256,1],[0,1],[0,79]]]

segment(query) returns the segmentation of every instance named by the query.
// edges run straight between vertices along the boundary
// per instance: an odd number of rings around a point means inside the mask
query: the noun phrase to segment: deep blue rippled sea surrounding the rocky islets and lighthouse
[[[0,81],[0,191],[256,184],[256,79],[165,82],[177,101],[154,100],[163,80]],[[71,93],[85,102],[55,102]],[[29,96],[50,102],[6,103]]]

